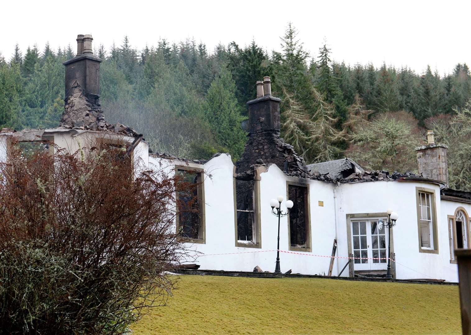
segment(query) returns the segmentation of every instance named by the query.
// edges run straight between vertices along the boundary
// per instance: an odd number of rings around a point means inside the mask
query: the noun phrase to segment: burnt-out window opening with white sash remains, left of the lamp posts
[[[254,181],[236,179],[235,197],[237,204],[237,241],[256,243]]]

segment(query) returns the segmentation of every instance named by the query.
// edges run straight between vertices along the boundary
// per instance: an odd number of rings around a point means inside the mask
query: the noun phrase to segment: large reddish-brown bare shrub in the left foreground
[[[175,177],[135,175],[123,150],[9,150],[0,333],[120,334],[165,303],[175,280],[166,273],[187,253],[175,233]]]

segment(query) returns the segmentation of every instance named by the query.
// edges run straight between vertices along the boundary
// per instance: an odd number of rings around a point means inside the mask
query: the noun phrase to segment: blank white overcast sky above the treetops
[[[83,6],[80,6],[80,3]],[[16,42],[23,53],[37,43],[42,51],[71,44],[77,34],[93,35],[94,47],[120,45],[128,35],[138,49],[195,38],[209,50],[219,42],[240,46],[252,38],[279,50],[279,37],[291,21],[299,39],[317,57],[324,37],[332,57],[346,63],[427,64],[440,74],[458,62],[471,65],[471,1],[5,1],[1,5],[0,52],[9,59]]]

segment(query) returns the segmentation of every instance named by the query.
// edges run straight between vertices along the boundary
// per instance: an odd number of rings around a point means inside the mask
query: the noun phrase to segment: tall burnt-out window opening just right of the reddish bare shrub
[[[179,236],[203,239],[202,172],[177,169],[177,229]]]

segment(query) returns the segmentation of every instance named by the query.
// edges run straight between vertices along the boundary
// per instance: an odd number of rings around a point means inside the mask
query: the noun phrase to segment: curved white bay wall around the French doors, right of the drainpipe
[[[419,232],[415,187],[435,190],[439,253],[419,252]],[[393,227],[394,252],[398,279],[433,278],[457,280],[457,271],[449,262],[448,227],[446,214],[442,213],[439,187],[417,181],[375,181],[341,185],[339,248],[347,255],[346,215],[354,213],[385,212],[392,208],[399,214]]]

